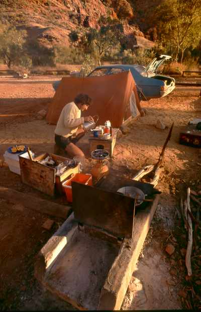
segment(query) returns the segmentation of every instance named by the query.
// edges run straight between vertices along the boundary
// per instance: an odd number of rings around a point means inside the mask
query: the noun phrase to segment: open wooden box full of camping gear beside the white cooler
[[[67,179],[72,173],[79,172],[79,165],[75,168],[65,170],[61,175],[56,174],[56,169],[40,164],[38,161],[51,156],[57,164],[68,160],[68,158],[61,157],[55,154],[44,153],[34,158],[34,161],[19,156],[21,179],[23,183],[32,186],[47,195],[54,196],[55,191],[59,194],[63,193],[62,182]]]

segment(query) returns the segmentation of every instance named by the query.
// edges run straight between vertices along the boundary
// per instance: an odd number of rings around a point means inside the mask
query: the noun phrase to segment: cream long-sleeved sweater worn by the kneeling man
[[[81,110],[74,102],[66,104],[57,121],[57,126],[54,131],[55,134],[65,138],[70,137],[77,131],[78,127],[84,123],[84,117],[80,116]]]

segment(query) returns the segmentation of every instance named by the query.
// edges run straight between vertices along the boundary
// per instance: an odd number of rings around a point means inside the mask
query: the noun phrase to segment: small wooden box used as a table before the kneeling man
[[[95,138],[93,136],[91,136],[88,140],[89,140],[89,150],[90,153],[94,150],[99,149],[99,146],[102,146],[102,149],[106,150],[107,152],[109,152],[110,157],[113,156],[113,151],[115,148],[115,144],[116,144],[116,140],[117,140],[117,132],[119,129],[114,129],[113,128],[113,136],[112,138],[105,140],[102,138]]]

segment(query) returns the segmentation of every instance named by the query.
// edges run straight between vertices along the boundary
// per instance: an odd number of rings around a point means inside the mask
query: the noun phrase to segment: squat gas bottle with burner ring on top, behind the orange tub
[[[91,169],[91,174],[95,181],[98,181],[105,175],[108,175],[109,168],[107,166],[109,152],[106,150],[94,150],[91,152],[91,158],[96,160],[96,164]]]

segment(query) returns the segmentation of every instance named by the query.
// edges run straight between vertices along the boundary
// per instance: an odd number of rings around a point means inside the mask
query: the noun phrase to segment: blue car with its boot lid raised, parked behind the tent
[[[152,98],[164,97],[175,88],[175,80],[169,76],[158,75],[157,69],[169,55],[156,55],[145,68],[141,65],[106,65],[96,67],[88,77],[104,76],[131,71],[140,99],[148,101]]]

